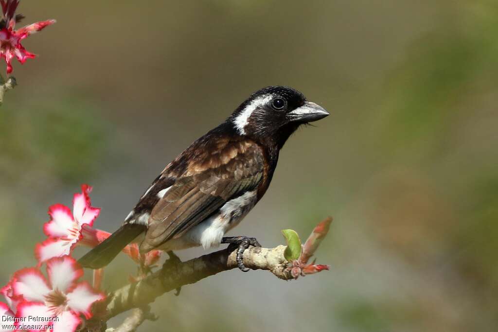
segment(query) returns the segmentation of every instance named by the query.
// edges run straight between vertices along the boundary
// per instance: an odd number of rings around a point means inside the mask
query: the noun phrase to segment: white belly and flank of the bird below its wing
[[[246,192],[220,209],[220,212],[189,229],[182,236],[169,240],[159,249],[178,250],[202,245],[204,249],[220,245],[225,233],[237,226],[256,204],[256,192]]]

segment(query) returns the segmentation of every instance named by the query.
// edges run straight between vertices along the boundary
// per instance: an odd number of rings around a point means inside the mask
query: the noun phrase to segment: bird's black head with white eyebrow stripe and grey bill
[[[308,102],[299,91],[272,86],[253,93],[228,121],[240,135],[262,143],[273,143],[281,148],[301,124],[327,115],[327,111]]]

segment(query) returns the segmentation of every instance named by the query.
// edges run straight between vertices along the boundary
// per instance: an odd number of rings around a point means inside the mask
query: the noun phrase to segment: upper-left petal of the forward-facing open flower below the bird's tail
[[[36,302],[43,302],[45,295],[51,290],[43,274],[34,267],[14,273],[12,289],[15,296],[22,296],[27,301]]]

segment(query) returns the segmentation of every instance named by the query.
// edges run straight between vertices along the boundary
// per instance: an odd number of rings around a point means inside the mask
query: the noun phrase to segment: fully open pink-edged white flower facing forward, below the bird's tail
[[[48,280],[37,268],[17,271],[11,283],[14,296],[22,297],[22,301],[17,305],[15,317],[24,318],[24,322],[16,322],[17,326],[40,324],[31,318],[43,317],[47,321],[41,324],[53,325],[55,332],[76,331],[81,324],[80,315],[90,319],[92,305],[105,299],[103,293],[95,291],[86,281],[77,282],[82,275],[83,269],[70,256],[47,261]]]

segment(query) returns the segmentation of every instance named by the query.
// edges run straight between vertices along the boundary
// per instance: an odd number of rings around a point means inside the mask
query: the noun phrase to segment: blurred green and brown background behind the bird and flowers
[[[58,22],[24,41],[40,56],[14,63],[19,86],[0,109],[2,284],[35,264],[49,205],[89,183],[96,227],[116,229],[190,142],[282,84],[332,115],[291,137],[231,234],[275,246],[280,229],[305,237],[332,215],[317,252],[331,271],[225,272],[159,298],[160,319],[140,331],[496,331],[497,1],[45,0],[18,12]],[[134,272],[121,257],[107,287]]]

